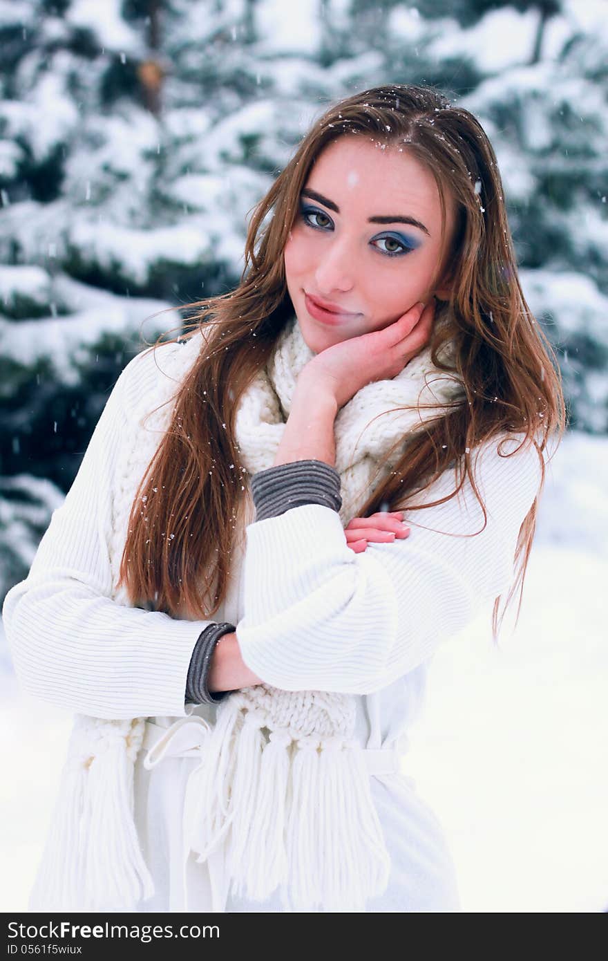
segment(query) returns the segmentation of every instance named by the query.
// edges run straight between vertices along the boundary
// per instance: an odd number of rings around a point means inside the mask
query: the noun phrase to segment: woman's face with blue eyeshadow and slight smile
[[[325,148],[284,249],[287,289],[315,354],[448,296],[432,278],[451,241],[452,206],[442,235],[434,177],[406,149],[358,135]],[[309,298],[338,312],[315,316]]]

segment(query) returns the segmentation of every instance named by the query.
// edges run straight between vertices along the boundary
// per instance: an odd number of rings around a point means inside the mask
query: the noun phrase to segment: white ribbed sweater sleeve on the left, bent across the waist
[[[154,391],[139,354],[114,385],[78,474],[2,609],[26,694],[100,718],[185,716],[190,658],[212,621],[188,621],[111,599],[111,490],[133,391]],[[148,380],[150,382],[148,382]],[[129,394],[126,394],[126,386]]]

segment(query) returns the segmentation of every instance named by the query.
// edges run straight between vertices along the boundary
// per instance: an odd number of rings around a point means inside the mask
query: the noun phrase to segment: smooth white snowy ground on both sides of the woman
[[[608,910],[608,439],[549,467],[520,622],[435,656],[403,769],[444,824],[467,912]],[[514,607],[517,604],[514,604]],[[71,716],[23,696],[0,639],[0,910],[25,910]]]

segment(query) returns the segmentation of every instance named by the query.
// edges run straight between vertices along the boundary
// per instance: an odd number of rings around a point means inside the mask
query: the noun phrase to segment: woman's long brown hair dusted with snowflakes
[[[432,87],[401,85],[364,90],[328,108],[256,205],[238,286],[186,305],[195,314],[180,339],[201,331],[205,349],[175,395],[170,427],[134,498],[116,585],[124,584],[134,603],[154,600],[169,614],[181,608],[210,619],[225,598],[243,501],[235,412],[293,316],[282,255],[312,164],[333,140],[357,134],[410,152],[432,172],[444,225],[447,205],[455,204],[453,242],[437,271],[438,276],[444,266],[449,269],[450,300],[437,304],[435,316],[445,322],[435,325],[431,348],[433,361],[442,367],[437,351],[447,337],[453,340],[451,370],[466,391],[466,398],[447,415],[416,433],[394,472],[379,483],[357,516],[374,513],[382,505],[412,510],[444,503],[469,476],[487,521],[470,452],[502,431],[523,432],[523,443],[534,444],[538,451],[542,474],[520,530],[514,558],[517,577],[505,604],[521,583],[519,617],[538,497],[545,482],[544,452],[549,440],[557,434],[559,443],[566,429],[559,367],[523,298],[499,167],[482,127],[469,111],[452,105]],[[456,485],[450,497],[426,505],[407,504],[408,494],[419,495],[454,464]],[[138,508],[144,494],[145,524]],[[170,517],[171,542],[163,537]],[[492,619],[495,640],[504,616],[503,611],[499,622],[499,601],[500,597]]]

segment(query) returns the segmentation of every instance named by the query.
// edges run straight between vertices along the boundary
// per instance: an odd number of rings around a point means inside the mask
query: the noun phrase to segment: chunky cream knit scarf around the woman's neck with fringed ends
[[[169,377],[159,378],[159,395],[175,394],[202,348],[199,332],[163,357],[160,367]],[[273,466],[298,376],[314,356],[290,318],[237,410],[236,443],[250,475]],[[440,359],[451,356],[448,343]],[[338,411],[335,467],[343,526],[394,469],[412,433],[463,395],[461,382],[439,371],[426,347],[397,377],[366,384]],[[419,410],[419,404],[433,409]],[[171,413],[171,405],[161,407],[136,441],[125,440],[113,492],[113,582],[134,492]],[[399,438],[377,474],[378,462]],[[131,604],[124,588],[114,600]],[[131,910],[154,893],[134,825],[134,761],[144,722],[76,715],[30,910]],[[354,722],[353,695],[282,691],[263,683],[219,703],[192,775],[194,809],[184,824],[195,825],[186,840],[199,861],[223,846],[235,895],[261,901],[280,888],[285,910],[356,911],[383,893],[390,857]]]

